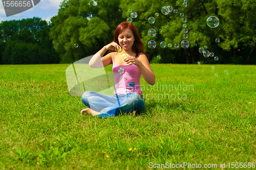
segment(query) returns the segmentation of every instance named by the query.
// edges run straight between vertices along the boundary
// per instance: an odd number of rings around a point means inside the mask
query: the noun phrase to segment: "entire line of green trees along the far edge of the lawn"
[[[172,6],[178,13],[171,11],[164,15],[163,6]],[[188,0],[187,7],[177,0],[65,0],[49,25],[40,18],[2,21],[0,47],[4,50],[0,52],[1,62],[72,63],[93,55],[113,40],[116,27],[130,17],[131,9],[138,14],[133,23],[151,63],[256,64],[255,6],[254,0]],[[209,16],[219,18],[217,28],[207,26]],[[153,24],[148,22],[149,17],[155,18]],[[182,22],[184,17],[186,22]],[[183,37],[184,23],[188,29],[187,38]],[[156,30],[155,37],[147,35],[149,29]],[[219,43],[215,42],[216,38],[220,38]],[[185,49],[181,47],[184,39],[190,43]],[[150,40],[156,41],[156,48],[147,46]],[[172,43],[172,47],[162,48],[161,41]],[[175,43],[180,46],[175,48]],[[199,53],[199,47],[205,45],[209,52],[219,57],[218,61]],[[157,59],[158,55],[161,59]]]

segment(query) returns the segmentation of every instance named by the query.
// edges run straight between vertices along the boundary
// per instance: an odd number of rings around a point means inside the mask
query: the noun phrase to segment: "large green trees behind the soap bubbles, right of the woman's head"
[[[134,19],[134,24],[141,30],[142,39],[144,44],[154,39],[157,42],[157,47],[154,50],[147,48],[147,52],[162,56],[162,62],[176,61],[177,63],[195,63],[197,60],[204,60],[204,62],[214,62],[213,58],[205,58],[198,52],[200,46],[208,46],[210,52],[215,52],[220,57],[219,63],[228,61],[228,58],[238,55],[238,46],[240,43],[244,43],[245,46],[252,47],[251,54],[253,54],[255,47],[253,48],[253,42],[255,35],[255,22],[253,13],[255,13],[255,3],[252,0],[249,1],[201,1],[194,0],[188,1],[188,6],[183,7],[180,1],[121,1],[122,10],[124,11],[123,17],[129,17],[129,8],[138,13],[138,18]],[[172,6],[178,10],[177,14],[173,11],[168,15],[164,15],[161,12],[163,6]],[[155,16],[158,12],[159,16]],[[180,13],[184,13],[184,17],[187,19],[186,25],[188,29],[188,38],[190,46],[187,49],[181,47],[175,48],[161,48],[159,47],[161,41],[166,43],[179,43],[184,40],[183,27],[184,24],[180,17]],[[155,17],[156,21],[153,25],[150,25],[147,21],[148,17]],[[220,25],[217,28],[209,28],[206,25],[206,19],[209,16],[217,16],[220,19]],[[240,16],[240,17],[238,17]],[[147,30],[154,28],[157,31],[157,36],[150,38],[147,36]],[[252,29],[251,29],[252,28]],[[162,29],[162,32],[158,30]],[[249,35],[252,37],[249,37]],[[221,39],[220,43],[215,42],[215,38]],[[180,44],[181,45],[181,44]],[[167,49],[166,49],[167,48]],[[240,49],[242,51],[242,49]],[[226,55],[227,52],[231,52],[232,55]],[[240,54],[241,54],[240,51]],[[252,55],[251,55],[252,56]],[[180,60],[180,58],[182,60]],[[243,63],[246,56],[241,57]],[[161,60],[160,60],[161,62]],[[233,60],[229,61],[233,62]]]

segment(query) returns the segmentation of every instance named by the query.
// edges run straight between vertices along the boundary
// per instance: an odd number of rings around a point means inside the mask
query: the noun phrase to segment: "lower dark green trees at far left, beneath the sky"
[[[58,63],[49,39],[50,25],[41,18],[2,21],[0,57],[3,64]]]

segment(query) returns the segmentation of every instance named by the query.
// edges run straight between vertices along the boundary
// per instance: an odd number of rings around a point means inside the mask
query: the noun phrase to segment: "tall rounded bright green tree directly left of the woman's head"
[[[61,63],[71,63],[95,54],[113,40],[114,30],[124,20],[120,1],[63,1],[52,18],[50,38]],[[79,46],[74,47],[77,43]]]

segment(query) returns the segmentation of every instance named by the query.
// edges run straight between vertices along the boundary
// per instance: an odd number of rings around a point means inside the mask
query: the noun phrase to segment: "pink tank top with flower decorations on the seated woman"
[[[115,63],[116,54],[113,60],[112,67],[113,74],[115,77],[114,94],[127,94],[133,92],[140,94],[142,92],[140,87],[141,72],[138,66],[134,64],[117,65]],[[139,55],[137,56],[137,58],[139,57]]]

